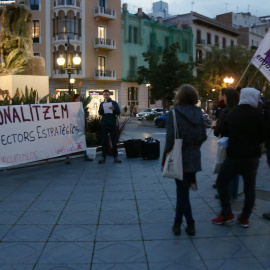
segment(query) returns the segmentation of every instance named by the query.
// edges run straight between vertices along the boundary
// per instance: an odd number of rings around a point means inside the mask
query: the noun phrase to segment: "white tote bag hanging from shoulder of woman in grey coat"
[[[182,162],[182,143],[183,140],[179,138],[175,111],[173,113],[174,124],[174,145],[171,152],[166,155],[166,161],[163,169],[163,176],[183,180],[183,162]]]

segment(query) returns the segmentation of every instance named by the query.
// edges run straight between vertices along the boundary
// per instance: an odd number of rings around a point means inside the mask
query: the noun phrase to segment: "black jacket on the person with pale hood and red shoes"
[[[226,119],[228,125],[228,157],[258,158],[264,139],[263,115],[247,104],[234,108]]]

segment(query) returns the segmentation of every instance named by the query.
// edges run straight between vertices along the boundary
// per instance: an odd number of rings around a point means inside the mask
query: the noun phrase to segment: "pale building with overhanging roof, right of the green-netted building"
[[[211,47],[225,48],[237,45],[237,30],[216,20],[205,17],[196,12],[176,15],[164,22],[171,26],[191,27],[194,35],[194,62],[200,64],[202,59],[211,53]]]

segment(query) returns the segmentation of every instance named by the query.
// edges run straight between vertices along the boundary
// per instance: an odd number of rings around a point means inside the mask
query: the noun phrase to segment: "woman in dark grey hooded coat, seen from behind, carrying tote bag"
[[[175,179],[177,189],[176,213],[172,230],[175,235],[181,233],[181,223],[185,216],[188,235],[195,235],[195,221],[189,200],[189,188],[196,187],[196,172],[201,171],[201,145],[206,140],[206,128],[201,108],[196,107],[198,93],[192,85],[182,85],[175,96],[175,110],[179,137],[183,140],[182,160],[183,179]],[[173,113],[167,116],[166,145],[163,154],[162,166],[164,166],[166,154],[174,145]]]

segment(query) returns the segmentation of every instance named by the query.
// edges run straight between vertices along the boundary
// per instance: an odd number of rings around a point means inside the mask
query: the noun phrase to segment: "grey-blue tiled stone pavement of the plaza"
[[[164,144],[164,142],[162,142]],[[162,147],[161,147],[162,148]],[[163,149],[163,148],[162,148]],[[82,157],[0,171],[0,269],[270,269],[270,179],[260,164],[250,228],[213,225],[216,138],[191,192],[196,236],[171,231],[175,183],[160,160],[104,165]],[[243,196],[233,203],[237,214]],[[185,224],[183,224],[184,228]]]

